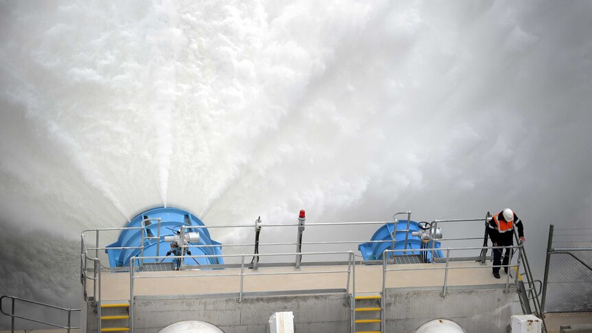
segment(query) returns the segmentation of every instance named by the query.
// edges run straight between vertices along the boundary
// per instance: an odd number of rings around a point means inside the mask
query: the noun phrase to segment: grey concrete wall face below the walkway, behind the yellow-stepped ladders
[[[441,288],[387,289],[386,332],[413,333],[432,319],[451,319],[467,333],[506,332],[510,324],[514,289],[500,285],[455,287],[446,297]],[[217,297],[139,297],[134,306],[134,332],[155,333],[185,320],[200,320],[225,333],[269,332],[274,312],[292,311],[297,333],[350,332],[350,306],[344,292],[310,295],[236,295]],[[92,312],[89,312],[91,314]],[[96,318],[89,315],[89,331],[96,332]]]

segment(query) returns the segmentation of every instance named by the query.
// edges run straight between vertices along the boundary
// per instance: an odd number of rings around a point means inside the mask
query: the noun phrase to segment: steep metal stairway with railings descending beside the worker
[[[514,229],[514,238],[518,244],[522,242],[518,238],[516,229]],[[520,265],[520,262],[523,262],[523,264]],[[523,269],[519,270],[519,268]],[[524,246],[521,251],[519,251],[518,267],[514,268],[514,273],[516,274],[516,277],[514,278],[516,282],[516,292],[518,293],[522,312],[525,314],[534,314],[536,317],[540,318],[540,321],[543,322],[543,332],[547,333],[545,314],[543,314],[543,311],[541,310],[540,299],[538,299],[538,291],[536,290],[535,285],[536,281],[532,277],[532,271],[530,270],[530,264],[528,263],[528,257]]]

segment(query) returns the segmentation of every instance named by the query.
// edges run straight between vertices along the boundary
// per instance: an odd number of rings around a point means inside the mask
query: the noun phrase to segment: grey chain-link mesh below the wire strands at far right
[[[592,266],[592,251],[570,251]],[[592,271],[567,253],[553,253],[549,262],[545,312],[592,311]]]

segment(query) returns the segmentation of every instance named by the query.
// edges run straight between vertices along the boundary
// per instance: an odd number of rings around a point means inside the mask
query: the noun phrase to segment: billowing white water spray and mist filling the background
[[[1,3],[0,294],[77,307],[80,231],[163,204],[512,207],[538,272],[591,225],[589,1],[317,2]]]

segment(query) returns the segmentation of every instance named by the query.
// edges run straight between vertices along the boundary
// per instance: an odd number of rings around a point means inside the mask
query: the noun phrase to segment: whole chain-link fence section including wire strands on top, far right
[[[549,232],[545,312],[592,312],[592,228]]]

